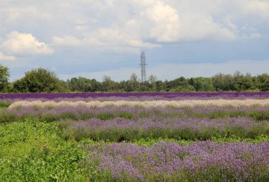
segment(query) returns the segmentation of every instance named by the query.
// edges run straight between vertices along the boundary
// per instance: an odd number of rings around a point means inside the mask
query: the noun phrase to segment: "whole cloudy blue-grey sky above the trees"
[[[173,80],[269,73],[269,0],[0,0],[0,64],[10,80]]]

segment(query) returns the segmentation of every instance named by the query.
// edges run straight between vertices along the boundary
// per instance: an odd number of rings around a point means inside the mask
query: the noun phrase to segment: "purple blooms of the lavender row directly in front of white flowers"
[[[229,113],[229,112],[263,112],[269,113],[269,108],[267,107],[246,107],[246,108],[217,108],[217,107],[198,107],[192,109],[180,109],[180,108],[166,108],[166,107],[156,107],[156,108],[139,108],[139,107],[102,107],[102,108],[90,108],[90,107],[23,107],[14,108],[0,111],[0,114],[13,113],[17,116],[30,115],[30,116],[40,116],[46,114],[61,115],[65,113],[72,114],[78,119],[81,114],[93,114],[96,116],[98,114],[114,114],[115,116],[120,116],[121,113],[130,113],[133,117],[149,117],[149,116],[179,116],[179,115],[192,115],[192,114],[205,114],[209,115],[212,113]]]

